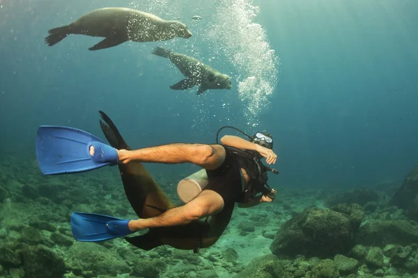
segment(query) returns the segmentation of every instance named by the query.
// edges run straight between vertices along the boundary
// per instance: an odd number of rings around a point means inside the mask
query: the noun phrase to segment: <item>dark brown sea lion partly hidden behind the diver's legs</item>
[[[130,149],[109,116],[99,111],[100,126],[104,136],[116,149]],[[118,164],[123,188],[128,201],[139,218],[153,218],[175,205],[162,191],[144,164],[139,161]],[[234,204],[224,207],[207,221],[195,220],[189,224],[173,227],[150,228],[141,236],[125,238],[128,243],[142,249],[152,250],[160,245],[169,245],[180,250],[199,251],[199,248],[215,244],[231,220]]]

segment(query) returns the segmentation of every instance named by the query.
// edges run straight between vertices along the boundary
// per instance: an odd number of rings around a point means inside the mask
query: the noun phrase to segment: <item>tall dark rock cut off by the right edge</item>
[[[401,188],[396,190],[390,204],[404,208],[411,218],[418,220],[418,164],[409,172]]]

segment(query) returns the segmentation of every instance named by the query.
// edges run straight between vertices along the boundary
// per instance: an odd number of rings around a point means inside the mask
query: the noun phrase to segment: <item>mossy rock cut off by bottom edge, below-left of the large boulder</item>
[[[234,278],[281,278],[283,268],[277,256],[266,255],[252,259]]]

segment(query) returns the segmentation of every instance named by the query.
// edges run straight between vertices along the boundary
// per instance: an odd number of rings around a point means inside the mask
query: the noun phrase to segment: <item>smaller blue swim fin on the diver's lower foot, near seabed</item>
[[[72,236],[78,241],[102,241],[134,233],[130,220],[95,213],[71,213]]]

